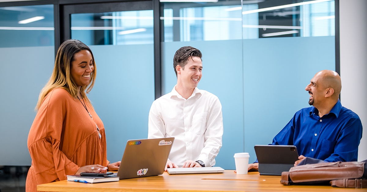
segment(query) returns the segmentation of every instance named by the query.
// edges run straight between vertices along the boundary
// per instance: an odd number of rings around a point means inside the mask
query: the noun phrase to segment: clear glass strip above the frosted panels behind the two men
[[[335,35],[334,0],[289,2],[163,3],[164,42]]]

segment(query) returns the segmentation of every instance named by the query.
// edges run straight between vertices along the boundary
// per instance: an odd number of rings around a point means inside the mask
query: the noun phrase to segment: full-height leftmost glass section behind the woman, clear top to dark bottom
[[[28,133],[54,52],[54,5],[0,6],[0,191],[25,191]]]

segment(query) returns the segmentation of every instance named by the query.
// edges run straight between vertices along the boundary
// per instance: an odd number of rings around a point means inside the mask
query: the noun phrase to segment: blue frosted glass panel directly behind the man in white
[[[183,46],[195,47],[203,53],[203,76],[198,88],[217,95],[222,104],[223,146],[215,158],[215,166],[234,169],[233,155],[244,150],[242,42],[225,40],[164,43],[163,88],[165,94],[171,92],[177,83],[173,69],[173,56],[176,50]],[[221,50],[218,50],[218,47]]]

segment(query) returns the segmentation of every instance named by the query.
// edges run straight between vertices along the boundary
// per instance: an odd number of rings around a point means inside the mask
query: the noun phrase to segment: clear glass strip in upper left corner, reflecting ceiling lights
[[[0,7],[0,47],[54,45],[54,6]]]

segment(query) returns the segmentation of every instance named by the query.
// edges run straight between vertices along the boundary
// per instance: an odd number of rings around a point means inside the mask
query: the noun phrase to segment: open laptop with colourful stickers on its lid
[[[127,141],[117,176],[120,179],[161,175],[174,137]]]

